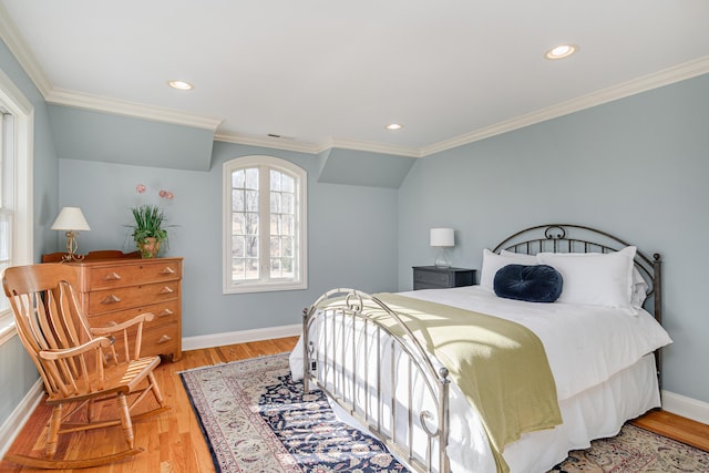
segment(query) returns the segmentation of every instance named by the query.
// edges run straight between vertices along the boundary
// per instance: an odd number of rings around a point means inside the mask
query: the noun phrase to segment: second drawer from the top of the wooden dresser
[[[179,281],[96,290],[89,294],[88,317],[179,297]]]

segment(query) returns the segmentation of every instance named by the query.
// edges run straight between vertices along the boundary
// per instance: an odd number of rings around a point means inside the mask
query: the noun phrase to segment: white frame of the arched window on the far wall
[[[254,281],[234,281],[232,278],[232,174],[235,171],[259,167],[260,173],[268,169],[275,169],[291,175],[296,183],[296,248],[294,256],[297,259],[296,276],[294,279],[269,279],[264,277],[267,273],[261,270],[261,278]],[[269,173],[270,174],[270,173]],[[269,181],[269,179],[267,179]],[[268,189],[259,188],[259,197],[263,198],[264,193],[270,196],[270,185]],[[280,290],[301,290],[308,288],[308,238],[307,238],[307,208],[308,208],[308,173],[300,166],[282,160],[280,157],[267,155],[239,156],[224,163],[223,166],[223,291],[224,294],[244,294],[244,292],[266,292]],[[261,199],[263,202],[263,199]],[[270,225],[270,205],[259,206],[259,222],[261,228]],[[268,232],[267,235],[269,235]],[[264,233],[261,232],[261,241]],[[263,247],[263,244],[261,244]],[[264,259],[268,259],[268,255],[264,251],[259,254],[259,263],[264,267]]]

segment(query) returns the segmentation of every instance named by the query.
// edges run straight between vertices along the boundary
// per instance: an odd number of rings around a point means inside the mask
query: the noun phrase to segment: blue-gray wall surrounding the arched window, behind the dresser
[[[268,154],[308,172],[307,290],[222,294],[222,164],[237,156]],[[60,202],[80,206],[91,232],[80,253],[134,250],[129,207],[157,203],[158,189],[175,198],[164,205],[171,224],[168,255],[182,256],[183,336],[194,337],[300,322],[301,310],[331,287],[368,291],[397,289],[397,189],[318,183],[318,156],[216,142],[208,172],[60,160]],[[348,270],[342,271],[346,267]]]

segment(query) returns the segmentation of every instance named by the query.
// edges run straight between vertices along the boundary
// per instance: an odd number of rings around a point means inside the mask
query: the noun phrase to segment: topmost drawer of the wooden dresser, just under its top
[[[182,265],[179,260],[154,260],[133,265],[91,267],[88,268],[86,290],[178,280],[181,277]]]

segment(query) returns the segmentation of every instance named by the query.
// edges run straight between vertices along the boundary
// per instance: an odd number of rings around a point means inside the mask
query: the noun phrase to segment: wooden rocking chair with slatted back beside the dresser
[[[110,328],[92,329],[79,309],[72,284],[75,268],[43,264],[8,268],[2,286],[10,300],[17,331],[37,366],[47,404],[52,407],[47,434],[45,457],[8,454],[4,460],[40,469],[76,469],[112,463],[141,453],[134,445],[133,421],[157,414],[165,407],[153,370],[160,357],[141,358],[143,323],[153,313],[142,313]],[[130,353],[129,328],[137,326]],[[132,330],[133,332],[133,330]],[[114,335],[123,340],[123,352],[116,353]],[[152,393],[158,407],[133,415],[133,408]],[[130,399],[129,399],[130,398]],[[115,401],[117,418],[101,420],[94,403]],[[64,408],[69,412],[64,412]],[[86,408],[86,420],[69,423]],[[112,410],[111,410],[112,411]],[[76,460],[56,460],[59,434],[121,425],[127,448],[119,453]]]

